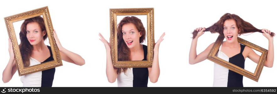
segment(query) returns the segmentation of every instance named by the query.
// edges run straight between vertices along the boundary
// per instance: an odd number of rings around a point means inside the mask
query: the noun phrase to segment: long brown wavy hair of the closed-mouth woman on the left
[[[30,44],[30,42],[27,39],[27,32],[26,32],[26,26],[28,23],[36,22],[39,24],[42,32],[46,32],[45,24],[43,21],[43,18],[41,16],[33,17],[25,19],[20,27],[20,44],[19,44],[19,50],[22,56],[24,67],[28,67],[30,65],[30,56],[32,54],[33,46]],[[43,36],[43,40],[47,38],[47,33]]]

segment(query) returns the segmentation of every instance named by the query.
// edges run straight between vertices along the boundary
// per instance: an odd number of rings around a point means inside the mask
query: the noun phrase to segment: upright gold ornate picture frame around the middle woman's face
[[[147,16],[147,60],[118,61],[117,49],[117,16],[146,15]],[[154,55],[154,8],[121,8],[110,9],[110,44],[114,68],[152,67]]]

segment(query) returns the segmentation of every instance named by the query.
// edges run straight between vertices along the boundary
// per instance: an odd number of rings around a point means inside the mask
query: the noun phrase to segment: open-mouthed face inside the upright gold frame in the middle
[[[128,23],[122,26],[123,40],[128,48],[139,46],[141,33],[136,29],[135,24]]]

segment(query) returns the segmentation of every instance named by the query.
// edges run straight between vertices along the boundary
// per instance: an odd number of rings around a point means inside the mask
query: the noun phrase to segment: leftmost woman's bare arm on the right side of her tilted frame
[[[66,50],[61,45],[55,30],[54,30],[54,38],[55,38],[56,44],[59,48],[62,60],[76,64],[76,65],[84,65],[85,64],[85,60],[80,55],[75,54],[69,50]]]

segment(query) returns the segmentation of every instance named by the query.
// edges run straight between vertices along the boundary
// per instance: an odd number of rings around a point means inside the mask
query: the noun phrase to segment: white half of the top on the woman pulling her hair
[[[217,57],[229,62],[229,57],[221,52],[221,46],[219,47],[219,51],[217,53]],[[221,66],[217,63],[214,63],[213,66],[213,87],[227,87],[228,83],[228,74],[229,69]]]

